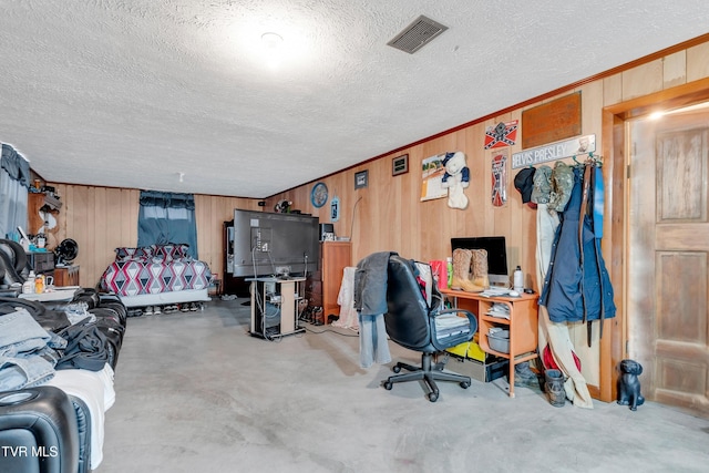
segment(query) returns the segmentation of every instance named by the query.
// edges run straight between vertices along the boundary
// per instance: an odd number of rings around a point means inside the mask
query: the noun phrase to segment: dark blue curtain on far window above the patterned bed
[[[137,246],[187,244],[197,259],[197,224],[192,194],[141,191]]]

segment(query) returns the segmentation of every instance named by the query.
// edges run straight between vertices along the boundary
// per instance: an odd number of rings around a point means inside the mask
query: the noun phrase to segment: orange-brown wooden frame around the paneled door
[[[689,82],[664,91],[643,95],[615,105],[605,106],[602,112],[602,151],[604,176],[610,185],[607,189],[609,212],[604,217],[604,225],[610,228],[608,238],[602,240],[603,254],[610,261],[608,273],[615,290],[617,306],[616,317],[604,321],[604,336],[600,339],[600,371],[598,392],[595,398],[612,402],[616,399],[616,367],[627,358],[628,318],[626,307],[627,269],[625,261],[628,254],[627,220],[627,178],[626,164],[626,121],[653,112],[689,106],[709,100],[709,78]]]

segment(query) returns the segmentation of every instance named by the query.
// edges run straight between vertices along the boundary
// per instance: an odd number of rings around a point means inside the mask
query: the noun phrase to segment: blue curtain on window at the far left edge
[[[2,144],[0,167],[0,237],[19,240],[17,227],[27,232],[27,193],[30,163],[9,144]]]

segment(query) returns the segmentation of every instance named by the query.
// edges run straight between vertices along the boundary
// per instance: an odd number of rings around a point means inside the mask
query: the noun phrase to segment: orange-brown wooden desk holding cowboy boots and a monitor
[[[452,289],[442,289],[441,294],[453,298],[455,307],[477,316],[479,343],[483,351],[510,360],[510,397],[514,398],[515,364],[538,357],[538,296],[523,294],[520,297],[485,297],[475,292]],[[493,302],[504,304],[510,308],[510,320],[487,313]],[[510,330],[510,353],[502,353],[490,348],[487,329],[491,327]]]

